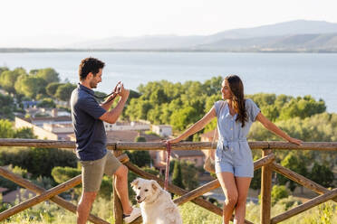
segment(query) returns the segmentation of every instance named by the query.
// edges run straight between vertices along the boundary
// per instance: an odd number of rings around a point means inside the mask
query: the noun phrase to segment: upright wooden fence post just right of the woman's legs
[[[272,154],[272,150],[264,149],[262,156]],[[261,224],[270,224],[272,206],[272,165],[266,164],[262,167],[261,174]]]

